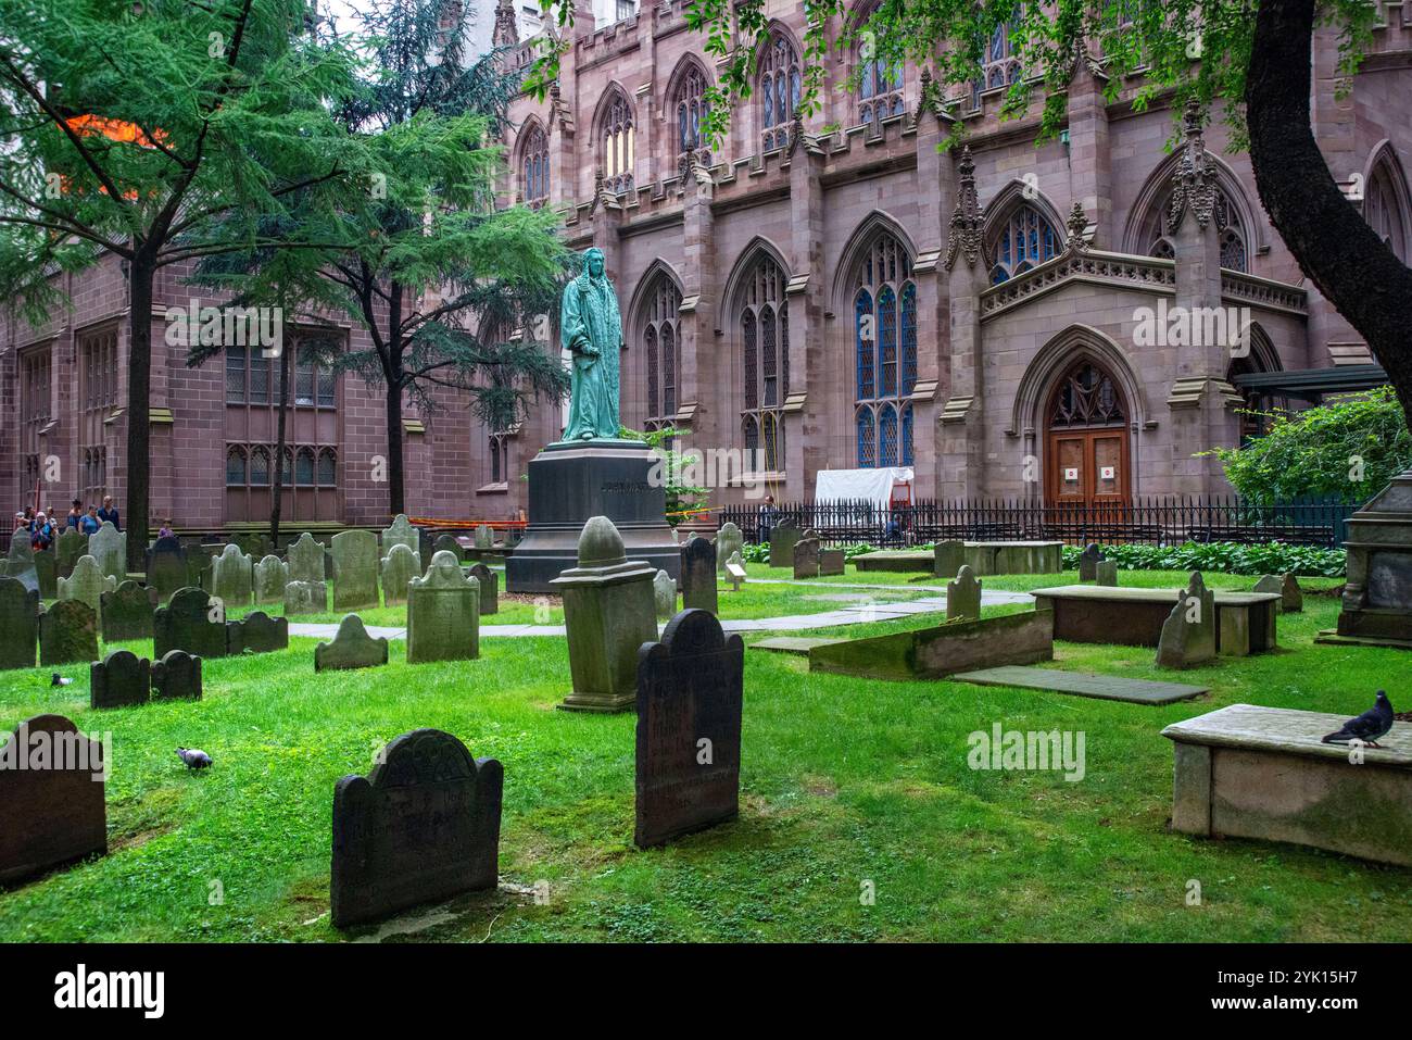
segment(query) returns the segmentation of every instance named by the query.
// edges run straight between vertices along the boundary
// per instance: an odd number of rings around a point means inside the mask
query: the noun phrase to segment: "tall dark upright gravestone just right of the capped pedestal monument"
[[[706,610],[683,610],[637,666],[640,848],[740,814],[746,644]]]

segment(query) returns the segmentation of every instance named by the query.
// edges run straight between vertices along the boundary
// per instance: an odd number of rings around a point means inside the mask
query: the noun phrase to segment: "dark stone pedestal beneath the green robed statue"
[[[640,441],[551,444],[530,463],[530,526],[505,560],[505,592],[555,592],[551,582],[578,565],[589,517],[617,527],[630,560],[681,574],[666,523],[666,490],[652,480],[659,456]],[[655,639],[655,633],[654,633]]]

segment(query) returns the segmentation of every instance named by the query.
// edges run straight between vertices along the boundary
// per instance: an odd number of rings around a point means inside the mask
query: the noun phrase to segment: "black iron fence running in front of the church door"
[[[727,506],[717,514],[761,541],[781,520],[813,528],[829,544],[866,541],[905,548],[943,538],[969,541],[1063,541],[1069,545],[1178,545],[1185,541],[1284,541],[1337,548],[1357,504],[1334,502],[1255,503],[1236,496],[1042,503],[1007,499],[923,500],[911,506],[871,502],[796,502],[762,510]]]

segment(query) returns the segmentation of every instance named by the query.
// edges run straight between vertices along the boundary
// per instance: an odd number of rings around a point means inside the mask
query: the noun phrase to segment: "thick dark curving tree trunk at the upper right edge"
[[[1245,79],[1260,201],[1300,270],[1367,341],[1412,421],[1412,270],[1343,196],[1309,113],[1315,0],[1260,4]]]

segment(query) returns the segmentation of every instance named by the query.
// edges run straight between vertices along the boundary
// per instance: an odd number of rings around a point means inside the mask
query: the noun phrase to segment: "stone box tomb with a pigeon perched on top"
[[[1233,704],[1172,723],[1172,829],[1412,866],[1412,725],[1353,764],[1347,745],[1320,742],[1347,718]]]

